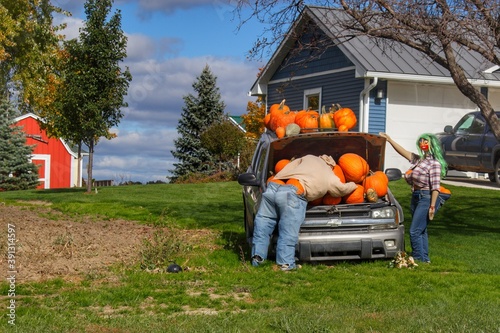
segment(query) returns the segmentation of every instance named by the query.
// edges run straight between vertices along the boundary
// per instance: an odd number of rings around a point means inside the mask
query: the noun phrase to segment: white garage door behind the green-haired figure
[[[388,82],[387,134],[405,149],[416,152],[416,140],[422,133],[439,133],[454,125],[476,105],[455,86]],[[409,163],[390,145],[386,149],[386,168],[406,171]]]

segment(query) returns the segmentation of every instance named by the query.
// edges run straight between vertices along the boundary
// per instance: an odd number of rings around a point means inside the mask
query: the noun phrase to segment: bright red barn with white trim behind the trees
[[[26,133],[26,144],[35,145],[32,162],[39,165],[40,189],[82,186],[82,165],[78,152],[63,139],[49,138],[40,129],[40,117],[28,113],[15,119]],[[83,154],[82,154],[83,155]],[[87,154],[85,154],[87,155]]]

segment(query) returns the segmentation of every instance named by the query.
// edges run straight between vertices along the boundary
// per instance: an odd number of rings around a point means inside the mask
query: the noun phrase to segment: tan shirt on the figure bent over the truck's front
[[[332,171],[335,164],[331,156],[306,155],[288,163],[275,178],[297,179],[304,187],[304,196],[308,201],[321,198],[327,192],[333,197],[343,197],[353,192],[356,184],[342,183]]]

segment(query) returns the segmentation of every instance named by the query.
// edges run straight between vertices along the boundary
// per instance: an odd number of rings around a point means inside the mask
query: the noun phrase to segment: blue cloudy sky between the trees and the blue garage
[[[83,0],[56,0],[70,11],[63,18],[67,38],[78,36],[85,20]],[[262,63],[249,61],[248,51],[264,26],[245,24],[237,31],[234,1],[225,0],[115,0],[113,13],[122,13],[128,37],[127,59],[133,80],[123,109],[124,117],[113,129],[117,138],[101,140],[95,149],[93,178],[121,181],[166,180],[177,162],[176,126],[183,97],[195,94],[192,85],[208,65],[217,77],[225,112],[246,112],[248,91]]]

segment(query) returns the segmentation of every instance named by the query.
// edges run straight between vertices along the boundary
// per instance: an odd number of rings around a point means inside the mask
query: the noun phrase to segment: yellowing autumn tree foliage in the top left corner
[[[0,0],[0,96],[43,116],[59,84],[63,36],[49,0]],[[14,99],[17,97],[16,99]]]

